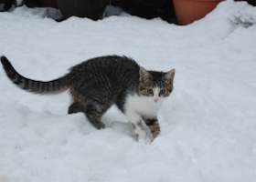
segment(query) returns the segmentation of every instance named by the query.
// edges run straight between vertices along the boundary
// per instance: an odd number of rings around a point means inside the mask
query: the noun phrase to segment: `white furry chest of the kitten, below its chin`
[[[124,110],[127,114],[135,112],[142,116],[154,117],[161,103],[160,100],[155,102],[153,96],[131,95],[126,98]]]

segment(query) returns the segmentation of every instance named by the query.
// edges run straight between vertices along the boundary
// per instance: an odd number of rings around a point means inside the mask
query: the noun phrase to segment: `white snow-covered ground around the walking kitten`
[[[176,68],[159,112],[161,136],[137,143],[112,108],[95,130],[67,115],[68,93],[37,96],[0,69],[0,182],[254,182],[256,7],[224,2],[192,25],[123,15],[62,23],[45,10],[0,14],[0,55],[25,76],[48,80],[93,56],[132,56]]]

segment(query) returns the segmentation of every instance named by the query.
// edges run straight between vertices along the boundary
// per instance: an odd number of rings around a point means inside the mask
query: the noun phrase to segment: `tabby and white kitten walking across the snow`
[[[149,143],[160,133],[157,111],[172,93],[176,73],[175,69],[165,73],[147,71],[126,56],[100,56],[46,82],[21,76],[5,56],[1,63],[6,76],[29,92],[53,94],[69,89],[72,104],[68,114],[84,113],[97,129],[105,127],[101,116],[116,105],[132,123],[134,138]]]

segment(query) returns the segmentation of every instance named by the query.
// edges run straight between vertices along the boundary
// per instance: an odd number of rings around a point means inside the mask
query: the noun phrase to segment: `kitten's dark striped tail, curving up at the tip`
[[[16,72],[14,66],[11,65],[5,56],[1,56],[1,63],[5,69],[6,75],[18,87],[37,94],[54,94],[69,89],[71,83],[71,76],[59,77],[48,82],[37,81],[21,76]]]

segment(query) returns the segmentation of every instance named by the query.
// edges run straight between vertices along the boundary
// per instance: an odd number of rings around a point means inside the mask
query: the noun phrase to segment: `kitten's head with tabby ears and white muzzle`
[[[173,91],[175,73],[175,69],[158,72],[147,71],[144,67],[140,67],[139,95],[152,97],[155,103],[161,102]]]

